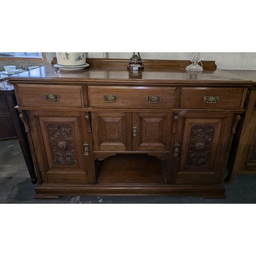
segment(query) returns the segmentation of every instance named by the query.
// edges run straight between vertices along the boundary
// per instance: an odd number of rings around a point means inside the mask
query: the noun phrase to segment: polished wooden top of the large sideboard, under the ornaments
[[[242,77],[231,74],[223,70],[204,70],[203,72],[189,73],[185,68],[176,67],[162,67],[153,68],[152,66],[145,68],[143,71],[132,72],[128,71],[127,66],[95,66],[92,65],[89,68],[77,70],[77,71],[65,71],[58,68],[54,68],[53,65],[41,67],[32,71],[16,74],[8,77],[7,79],[11,83],[15,82],[34,82],[37,83],[104,83],[111,82],[113,85],[120,82],[126,84],[140,84],[140,83],[159,83],[159,84],[255,84],[251,80],[245,80]]]

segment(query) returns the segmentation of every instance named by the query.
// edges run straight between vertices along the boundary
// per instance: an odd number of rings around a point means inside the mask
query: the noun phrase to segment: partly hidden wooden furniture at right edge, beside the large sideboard
[[[227,70],[227,72],[256,83],[255,70]],[[225,179],[228,184],[231,184],[238,174],[256,174],[256,87],[251,87],[247,91],[245,109],[228,159],[229,174]]]

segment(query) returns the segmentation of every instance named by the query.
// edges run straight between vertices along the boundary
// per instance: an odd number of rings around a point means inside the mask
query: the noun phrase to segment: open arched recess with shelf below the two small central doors
[[[166,184],[162,161],[141,154],[117,154],[103,160],[98,184]]]

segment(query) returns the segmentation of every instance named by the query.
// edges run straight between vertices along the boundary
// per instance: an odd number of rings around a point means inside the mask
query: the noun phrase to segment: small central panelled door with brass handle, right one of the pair
[[[172,113],[133,113],[133,151],[169,151]]]

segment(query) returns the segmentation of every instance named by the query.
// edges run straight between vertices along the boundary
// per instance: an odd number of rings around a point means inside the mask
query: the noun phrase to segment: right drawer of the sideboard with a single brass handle
[[[181,109],[241,108],[244,88],[187,88],[181,89]],[[243,107],[243,106],[242,106]]]

